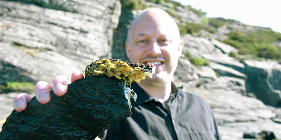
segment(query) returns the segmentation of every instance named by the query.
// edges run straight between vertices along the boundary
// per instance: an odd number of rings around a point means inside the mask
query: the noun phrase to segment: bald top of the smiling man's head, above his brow
[[[170,30],[174,31],[174,37],[178,37],[178,39],[180,39],[179,28],[173,18],[162,9],[150,7],[144,9],[131,22],[128,29],[127,42],[130,41],[130,36],[132,36],[132,33],[134,33],[135,28],[144,24],[146,24],[146,27],[148,28],[169,28]]]

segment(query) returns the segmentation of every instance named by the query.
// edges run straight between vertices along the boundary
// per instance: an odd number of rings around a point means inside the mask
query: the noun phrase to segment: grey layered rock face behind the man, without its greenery
[[[164,10],[169,5],[146,4]],[[139,12],[123,0],[0,0],[0,85],[7,81],[51,83],[57,75],[70,81],[71,73],[83,71],[83,66],[96,59],[128,60],[124,47],[128,25]],[[188,8],[178,6],[174,12],[182,21],[201,22]],[[183,55],[174,81],[210,103],[223,139],[243,139],[246,133],[263,130],[278,137],[280,65],[229,57],[238,50],[216,39],[237,28],[258,30],[233,23],[229,28],[218,28],[217,33],[200,32],[209,38],[182,35]],[[208,65],[192,64],[185,53],[206,59]],[[13,98],[19,93],[0,94],[0,120],[11,114]]]

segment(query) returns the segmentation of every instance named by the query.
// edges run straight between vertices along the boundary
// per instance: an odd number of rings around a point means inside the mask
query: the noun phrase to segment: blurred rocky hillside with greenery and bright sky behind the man
[[[177,22],[184,49],[174,81],[210,103],[223,139],[281,139],[277,0],[0,0],[0,130],[14,97],[34,96],[38,81],[70,83],[99,58],[127,61],[128,25],[147,7]]]

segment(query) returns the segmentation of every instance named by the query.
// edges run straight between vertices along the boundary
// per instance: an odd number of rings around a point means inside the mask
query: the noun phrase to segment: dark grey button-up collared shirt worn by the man
[[[137,85],[132,115],[112,124],[102,140],[220,140],[210,105],[201,97],[172,83],[168,108]],[[170,115],[171,114],[171,115]]]

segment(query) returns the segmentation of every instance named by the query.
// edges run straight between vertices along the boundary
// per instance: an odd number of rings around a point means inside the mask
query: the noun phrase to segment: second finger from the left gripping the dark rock
[[[34,87],[35,97],[39,103],[48,103],[51,99],[50,97],[50,86],[46,81],[39,81]]]

